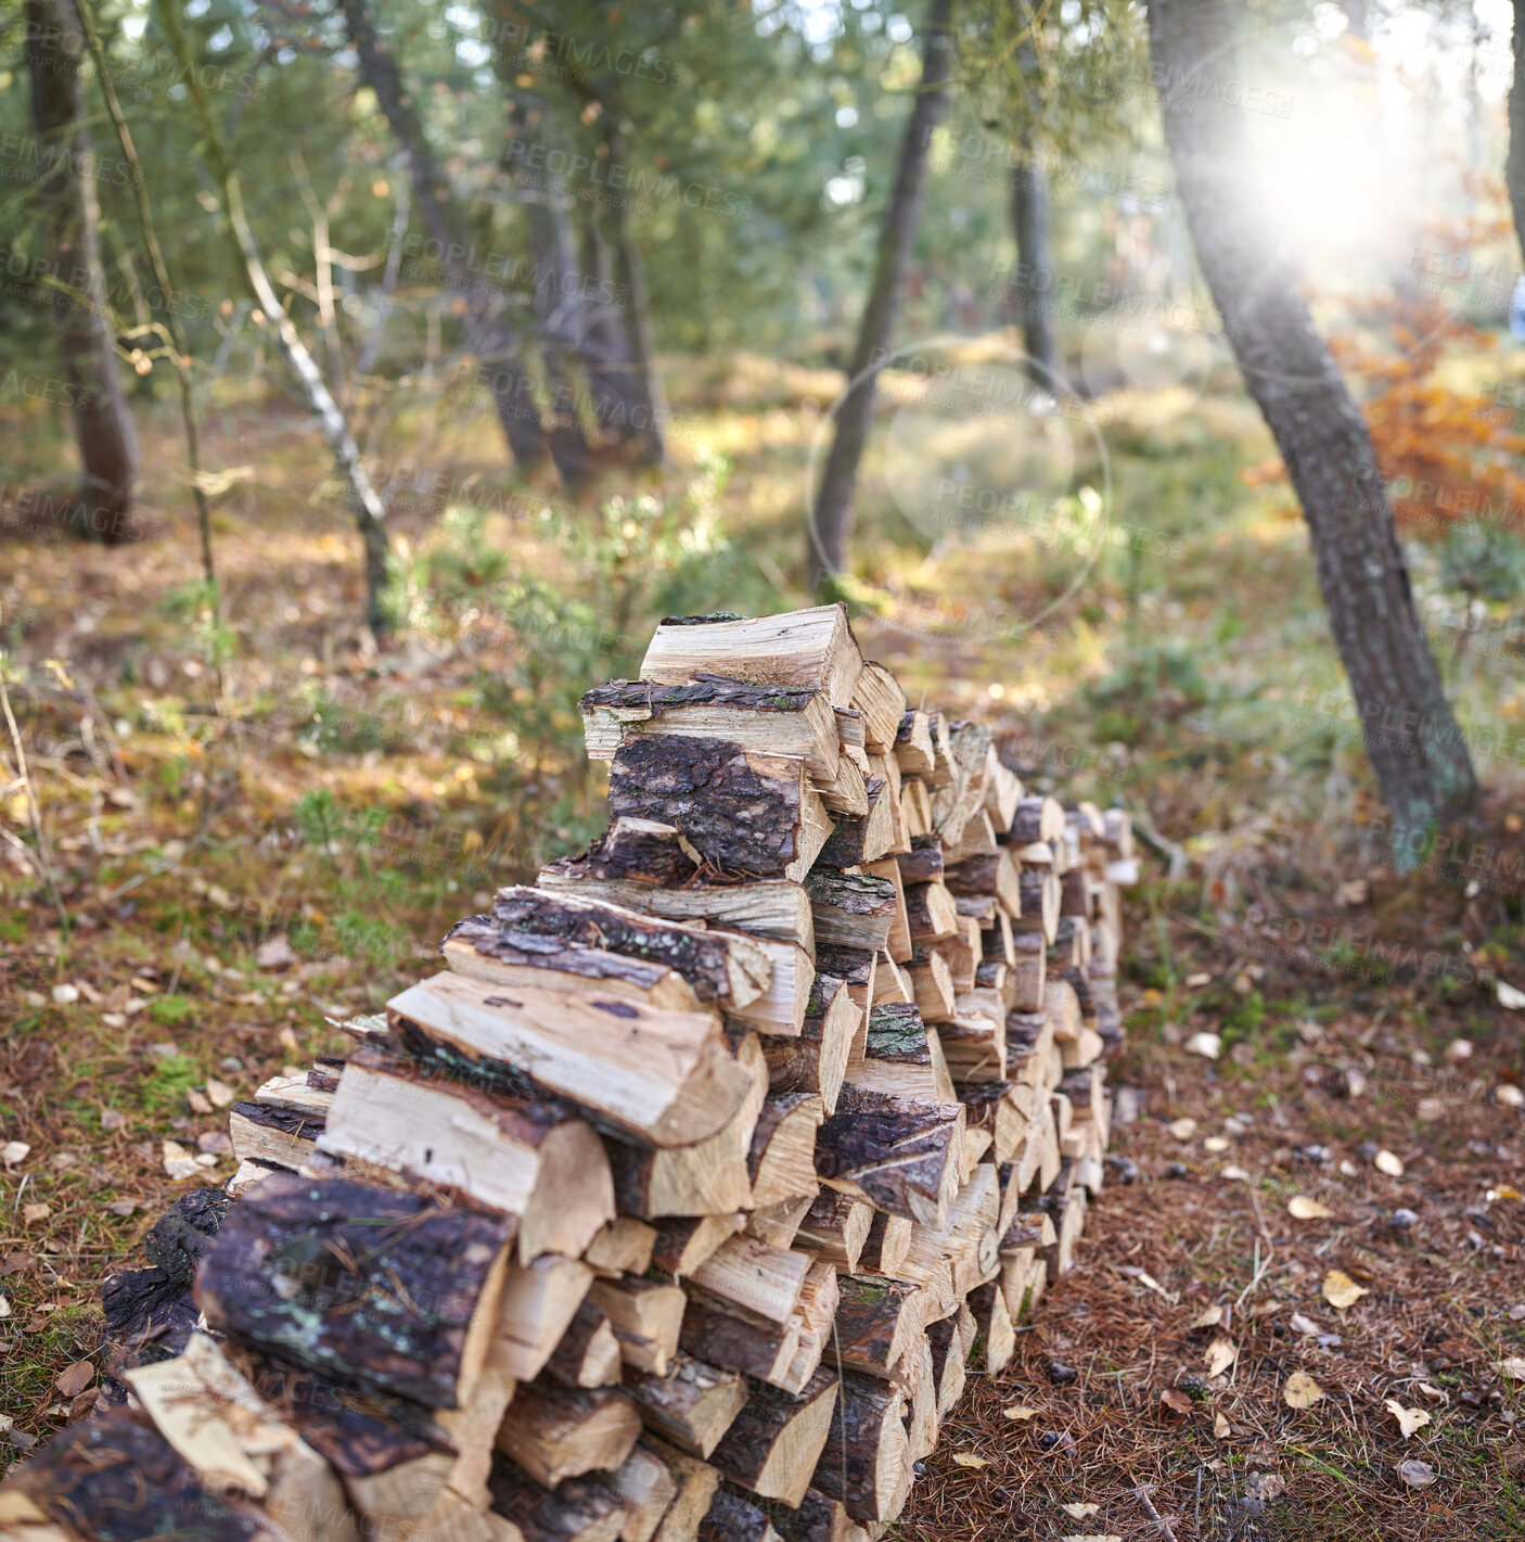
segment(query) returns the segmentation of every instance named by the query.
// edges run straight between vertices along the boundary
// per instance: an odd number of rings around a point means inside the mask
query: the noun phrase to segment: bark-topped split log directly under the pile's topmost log
[[[830,786],[842,759],[837,720],[825,691],[752,685],[703,674],[688,685],[611,680],[581,700],[589,760],[612,760],[641,734],[723,739],[742,749],[797,756],[817,786]]]

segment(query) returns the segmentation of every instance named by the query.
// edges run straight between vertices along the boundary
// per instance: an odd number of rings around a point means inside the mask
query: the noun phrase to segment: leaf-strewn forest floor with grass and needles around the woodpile
[[[663,612],[803,603],[822,381],[760,361],[674,373],[680,470],[624,478],[638,497],[601,513],[512,490],[480,419],[402,424],[433,470],[392,469],[404,629],[381,652],[295,413],[230,399],[208,426],[210,464],[259,467],[216,513],[214,626],[165,469],[173,416],[145,416],[159,527],[111,550],[26,513],[17,489],[66,484],[52,426],[3,446],[0,515],[32,527],[0,530],[0,635],[48,851],[42,871],[26,790],[5,790],[15,1456],[93,1400],[57,1379],[103,1363],[102,1278],[185,1181],[230,1173],[222,1104],[335,1049],[328,1019],[433,968],[450,922],[598,827],[578,694],[631,671]],[[1499,1089],[1525,1084],[1525,1013],[1497,981],[1525,988],[1520,654],[1490,631],[1497,612],[1451,626],[1462,601],[1422,555],[1491,791],[1476,828],[1399,874],[1348,708],[1323,695],[1338,668],[1301,526],[1284,489],[1240,476],[1266,453],[1258,426],[1227,393],[1112,406],[1116,520],[1147,541],[1107,552],[1036,631],[1016,623],[1073,577],[1052,552],[928,555],[888,506],[862,520],[865,651],[1005,731],[1035,788],[1121,800],[1181,850],[1170,876],[1146,848],[1129,896],[1126,1163],[894,1536],[1511,1534],[1525,1115]],[[708,453],[729,460],[723,486]],[[1221,1036],[1217,1059],[1187,1050],[1200,1030]],[[205,1158],[199,1178],[168,1175],[183,1155]],[[1329,1214],[1295,1220],[1294,1197]],[[1331,1271],[1365,1294],[1332,1305]],[[1193,1326],[1212,1306],[1220,1328]],[[1212,1374],[1218,1338],[1234,1360]],[[1076,1377],[1056,1383],[1055,1362]],[[1298,1371],[1321,1397],[1294,1409]],[[1391,1405],[1428,1423],[1405,1437]],[[1400,1463],[1426,1468],[1405,1480]]]

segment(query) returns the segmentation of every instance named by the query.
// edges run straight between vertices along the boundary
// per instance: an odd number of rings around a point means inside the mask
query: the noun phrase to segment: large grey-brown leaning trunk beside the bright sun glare
[[[1195,89],[1235,68],[1223,0],[1150,0],[1149,42],[1155,77],[1178,83],[1160,105],[1197,259],[1303,504],[1403,853],[1412,833],[1469,803],[1477,780],[1414,608],[1371,433],[1258,217],[1243,111]]]

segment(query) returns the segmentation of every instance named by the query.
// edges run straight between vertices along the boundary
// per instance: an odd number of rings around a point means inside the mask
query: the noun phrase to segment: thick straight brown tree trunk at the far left
[[[26,0],[32,125],[48,170],[37,185],[59,353],[69,384],[80,492],[71,527],[116,544],[131,534],[137,433],[117,378],[106,276],[100,267],[96,162],[85,133],[85,35],[72,0]]]

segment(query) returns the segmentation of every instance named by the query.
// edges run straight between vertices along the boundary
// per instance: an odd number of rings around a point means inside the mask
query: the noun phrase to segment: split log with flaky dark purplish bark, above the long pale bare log
[[[521,887],[498,890],[492,914],[456,922],[439,950],[452,968],[492,984],[618,990],[629,982],[640,987],[637,999],[645,992],[651,1005],[669,1010],[703,1004],[739,1012],[766,990],[769,971],[745,936]],[[648,975],[655,984],[646,984]],[[694,999],[683,1001],[680,985]]]

